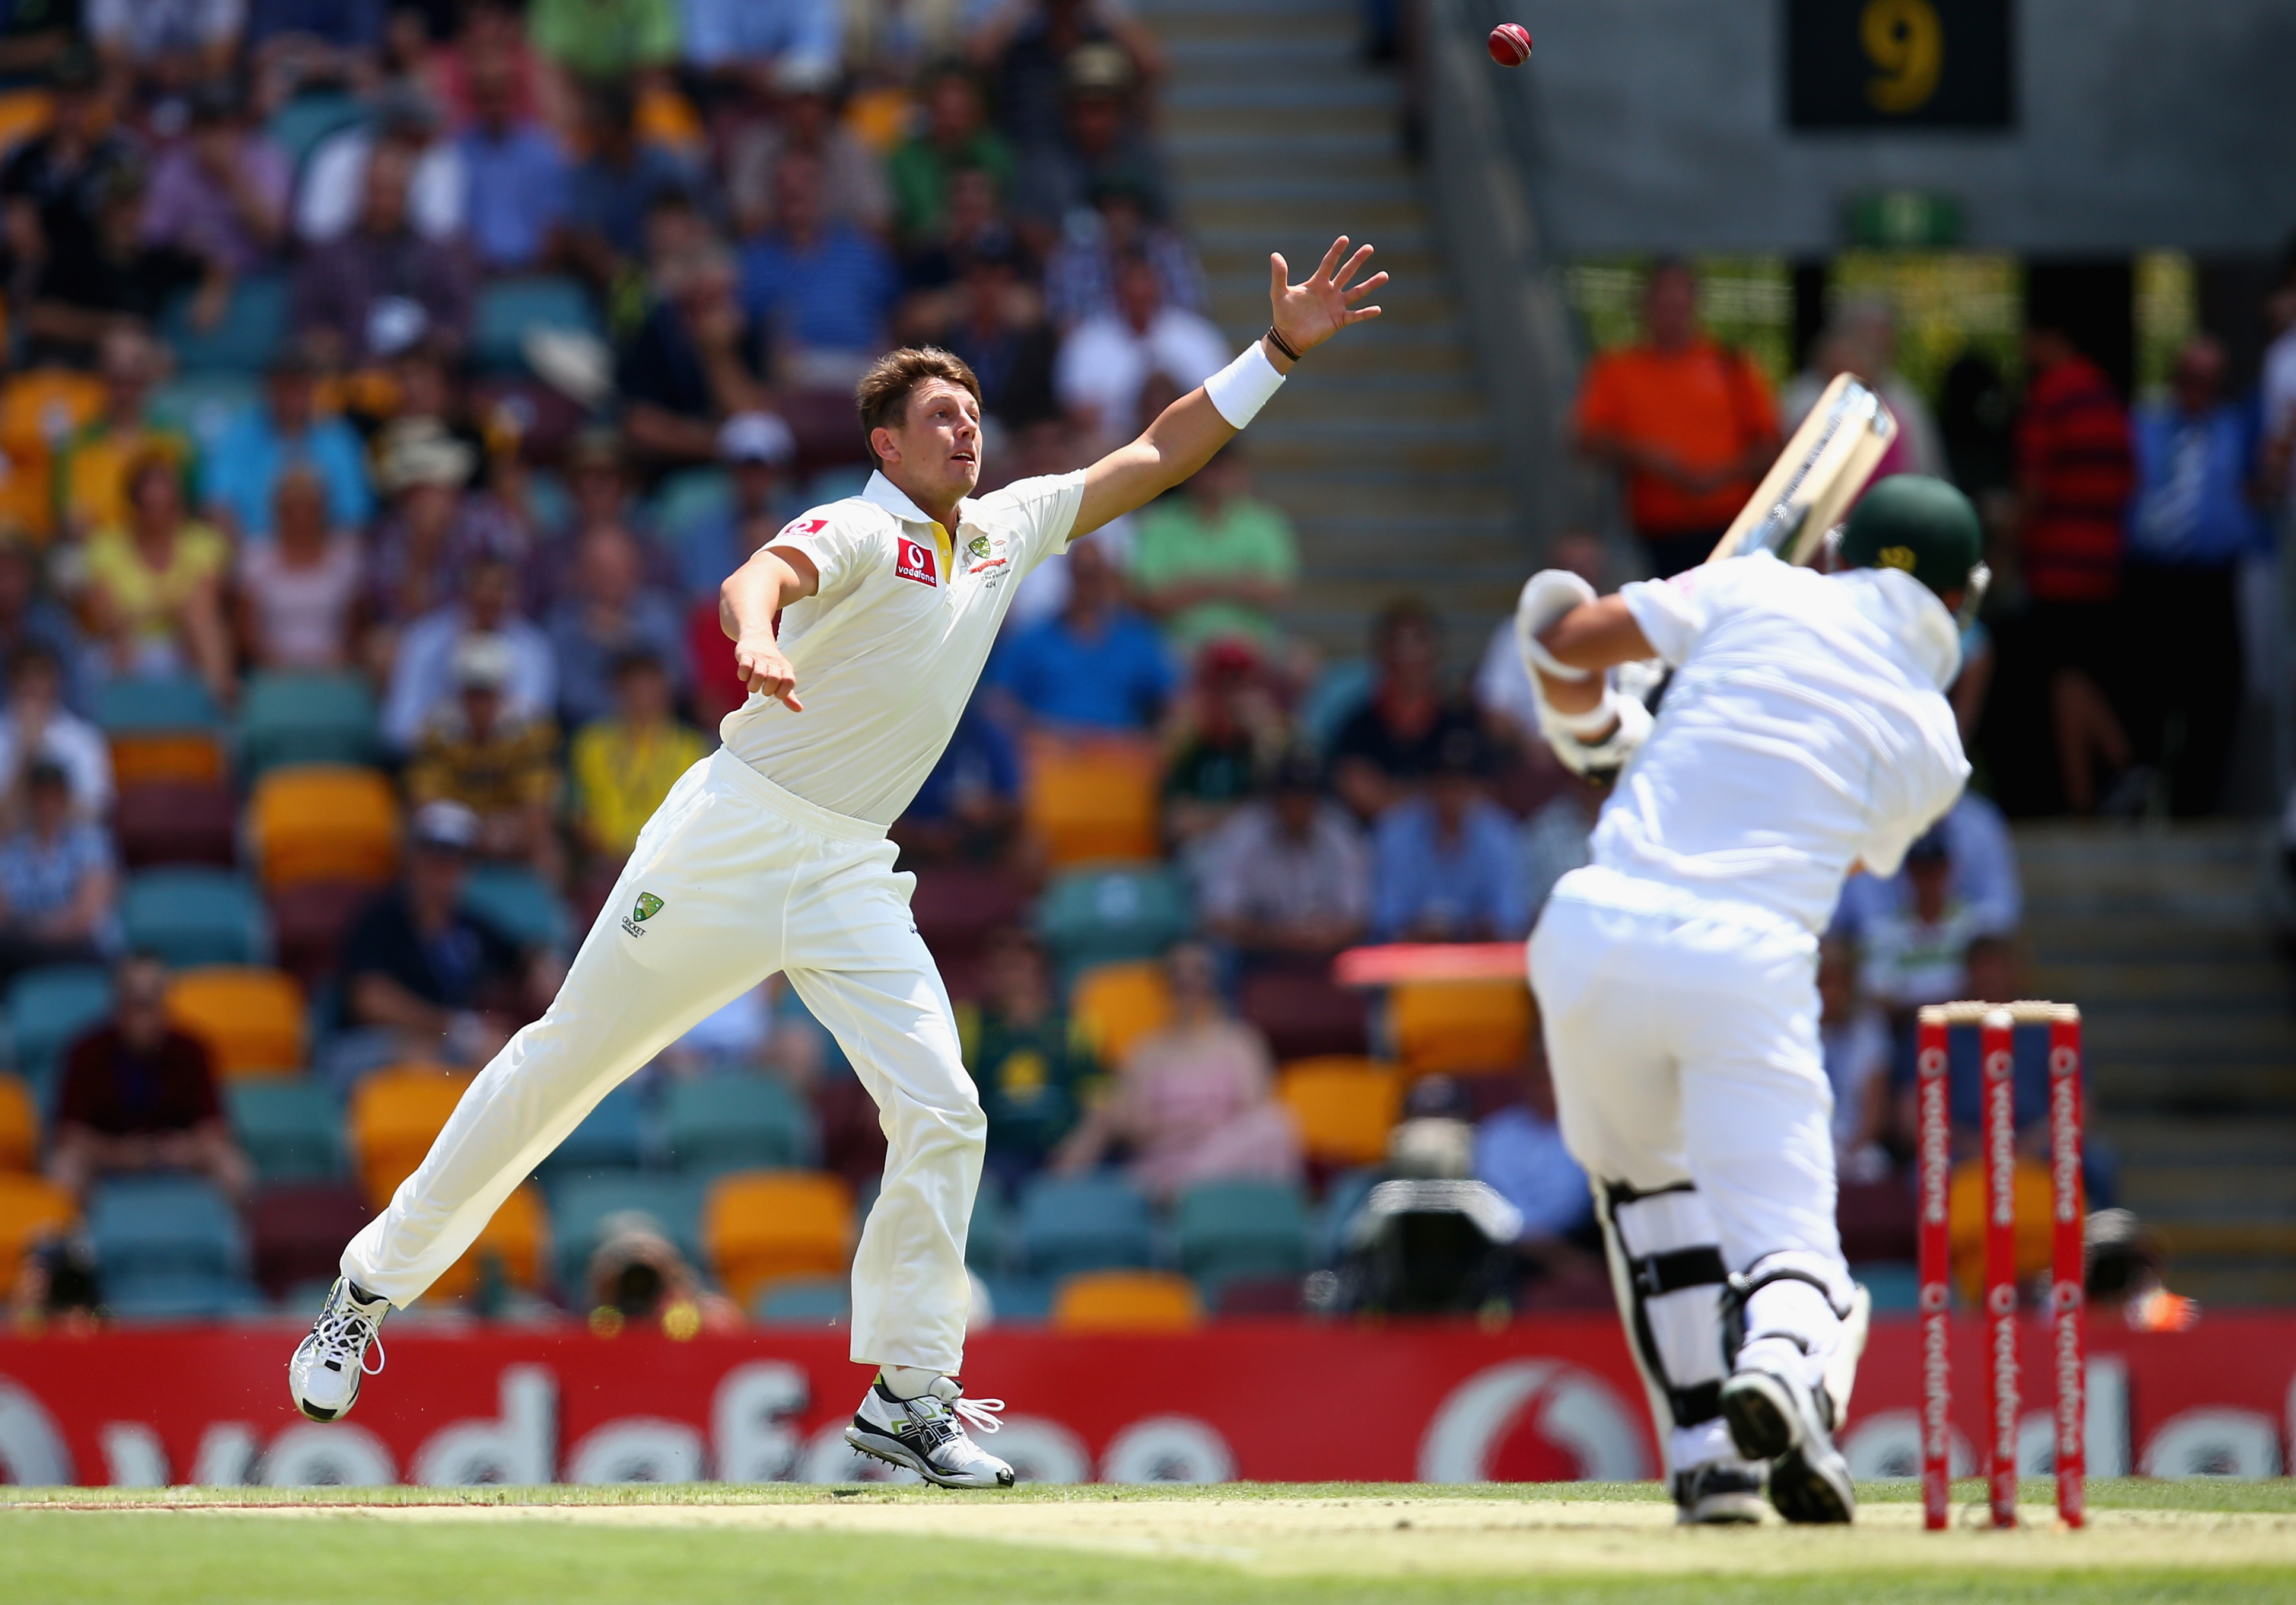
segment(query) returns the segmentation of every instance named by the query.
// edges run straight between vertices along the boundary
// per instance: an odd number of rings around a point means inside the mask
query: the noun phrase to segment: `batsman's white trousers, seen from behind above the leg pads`
[[[1531,990],[1564,1143],[1591,1178],[1694,1183],[1733,1272],[1789,1254],[1848,1297],[1816,937],[1593,866],[1548,898]]]

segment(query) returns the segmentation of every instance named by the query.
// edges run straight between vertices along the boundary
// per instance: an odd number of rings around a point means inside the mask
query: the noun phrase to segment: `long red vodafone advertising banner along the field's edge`
[[[2296,1316],[2193,1332],[2105,1323],[2089,1343],[2089,1472],[2273,1476],[2296,1412]],[[11,1483],[856,1481],[840,1430],[868,1373],[843,1332],[675,1343],[581,1327],[386,1332],[349,1421],[287,1405],[292,1325],[0,1339]],[[1910,1320],[1876,1325],[1844,1447],[1860,1476],[1919,1470]],[[1954,1334],[1954,1470],[1979,1440],[1979,1327]],[[2027,1472],[2050,1451],[2048,1332],[2025,1332]],[[1614,1320],[1486,1332],[1238,1320],[1182,1336],[983,1332],[967,1391],[1003,1398],[994,1449],[1040,1481],[1552,1481],[1658,1474]]]

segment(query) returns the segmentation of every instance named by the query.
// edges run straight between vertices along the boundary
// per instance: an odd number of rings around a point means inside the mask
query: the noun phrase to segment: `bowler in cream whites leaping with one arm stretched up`
[[[1013,1483],[967,1435],[994,1430],[1003,1405],[957,1382],[985,1118],[886,827],[948,744],[1022,576],[1196,473],[1302,354],[1378,317],[1362,303],[1387,273],[1359,278],[1368,259],[1341,237],[1290,285],[1270,257],[1267,335],[1091,468],[980,498],[974,372],[937,349],[870,367],[856,400],[877,473],[723,583],[748,700],[638,836],[551,1008],[471,1081],[344,1249],[287,1366],[303,1414],[351,1408],[383,1316],[420,1297],[615,1084],[783,971],[852,1059],[889,1143],[852,1267],[852,1357],[877,1375],[845,1437],[946,1488]]]

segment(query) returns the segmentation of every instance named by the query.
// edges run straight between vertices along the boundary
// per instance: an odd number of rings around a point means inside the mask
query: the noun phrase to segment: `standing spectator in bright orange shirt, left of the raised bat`
[[[1626,475],[1626,510],[1662,576],[1706,560],[1777,457],[1777,406],[1754,365],[1699,331],[1699,280],[1660,262],[1642,344],[1587,367],[1580,455]]]

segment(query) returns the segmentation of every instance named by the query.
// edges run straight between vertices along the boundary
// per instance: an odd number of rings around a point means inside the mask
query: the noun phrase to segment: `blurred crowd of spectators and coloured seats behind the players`
[[[716,586],[861,487],[870,356],[974,365],[990,482],[1079,466],[1219,367],[1159,73],[1120,0],[0,23],[21,1318],[301,1307],[333,1274],[714,746],[742,696]],[[2154,765],[2206,808],[2223,751],[2195,714],[2236,650],[2142,707],[2082,654],[2124,567],[2174,592],[2181,641],[2236,643],[2223,576],[2264,540],[2250,489],[2287,429],[2223,411],[2206,342],[2131,429],[2048,340],[2016,475],[1975,489],[2023,491],[1995,510],[2062,657],[2064,797]],[[1577,432],[1655,567],[1711,546],[1839,367],[1908,420],[1892,466],[1963,471],[1890,379],[1885,321],[1846,317],[1814,360],[1782,411],[1697,333],[1690,273],[1653,273],[1646,340],[1596,360]],[[1554,560],[1623,576],[1587,535]],[[1504,629],[1458,682],[1479,643],[1398,599],[1368,659],[1318,664],[1279,622],[1297,569],[1240,448],[1047,565],[893,831],[990,1114],[974,1263],[999,1318],[1607,1304],[1527,992],[1332,980],[1359,941],[1520,939],[1600,794],[1545,755]],[[2016,921],[1977,794],[1844,900],[1825,1049],[1871,1258],[1908,1256],[1903,1026],[2014,997]],[[443,1293],[836,1318],[882,1153],[767,980],[611,1093]],[[1456,1274],[1389,1263],[1373,1187],[1469,1178],[1495,1210]]]

